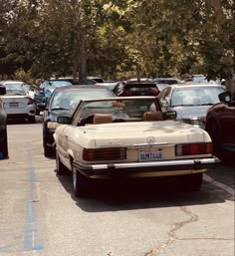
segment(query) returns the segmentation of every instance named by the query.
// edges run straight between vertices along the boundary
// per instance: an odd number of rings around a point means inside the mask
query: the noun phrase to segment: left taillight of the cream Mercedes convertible
[[[126,148],[124,147],[84,148],[83,158],[86,161],[122,160],[126,158]]]

